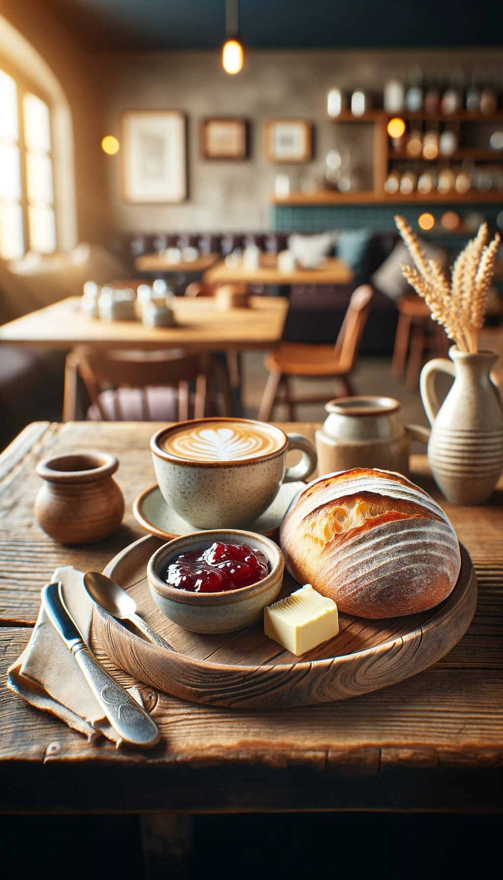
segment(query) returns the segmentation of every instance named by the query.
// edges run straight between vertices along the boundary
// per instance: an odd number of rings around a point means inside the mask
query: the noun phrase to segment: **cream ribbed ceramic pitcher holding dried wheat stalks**
[[[434,358],[421,372],[421,397],[432,425],[428,462],[449,502],[481,504],[503,467],[503,412],[489,375],[498,355],[472,355],[453,345],[449,357]],[[435,392],[439,372],[455,377],[441,407]]]

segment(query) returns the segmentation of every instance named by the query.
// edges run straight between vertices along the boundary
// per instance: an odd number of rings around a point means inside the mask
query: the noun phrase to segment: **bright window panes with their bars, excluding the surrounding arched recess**
[[[48,104],[0,70],[0,256],[56,248]]]

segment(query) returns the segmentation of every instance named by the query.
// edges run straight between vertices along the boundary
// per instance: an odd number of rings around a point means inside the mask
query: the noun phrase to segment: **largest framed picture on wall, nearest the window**
[[[184,202],[185,115],[179,110],[131,110],[121,121],[122,197],[126,202]]]

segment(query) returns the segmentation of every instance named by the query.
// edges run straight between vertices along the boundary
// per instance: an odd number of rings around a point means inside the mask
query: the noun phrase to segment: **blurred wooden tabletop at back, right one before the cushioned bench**
[[[242,263],[235,268],[220,260],[206,269],[203,282],[207,284],[350,284],[353,274],[349,266],[337,257],[328,257],[319,269],[296,268],[292,272],[280,272],[277,268],[277,254],[263,253],[260,267],[250,270]]]

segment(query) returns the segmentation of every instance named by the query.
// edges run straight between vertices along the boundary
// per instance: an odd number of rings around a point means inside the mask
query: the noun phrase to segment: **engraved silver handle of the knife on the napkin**
[[[144,747],[155,745],[160,730],[144,708],[108,675],[85,642],[77,642],[71,650],[108,721],[124,742]]]

